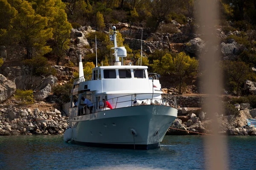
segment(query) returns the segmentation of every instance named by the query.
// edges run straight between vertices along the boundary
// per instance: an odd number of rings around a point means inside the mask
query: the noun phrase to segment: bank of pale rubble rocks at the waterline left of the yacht
[[[35,108],[37,105],[44,110]],[[1,104],[0,136],[63,134],[68,128],[68,119],[62,111],[45,102],[31,108]]]

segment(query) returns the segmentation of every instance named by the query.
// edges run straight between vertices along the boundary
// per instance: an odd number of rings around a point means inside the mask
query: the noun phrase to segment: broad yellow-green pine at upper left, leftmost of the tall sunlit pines
[[[52,28],[46,28],[47,17],[35,14],[28,1],[22,1],[17,7],[19,11],[11,20],[11,31],[14,40],[26,48],[26,58],[31,59],[51,51],[49,46],[45,46],[46,41],[52,37]]]

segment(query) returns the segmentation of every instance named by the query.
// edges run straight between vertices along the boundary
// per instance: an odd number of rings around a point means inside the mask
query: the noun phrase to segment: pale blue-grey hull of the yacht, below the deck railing
[[[72,142],[96,147],[152,149],[159,147],[177,109],[139,105],[72,117]]]

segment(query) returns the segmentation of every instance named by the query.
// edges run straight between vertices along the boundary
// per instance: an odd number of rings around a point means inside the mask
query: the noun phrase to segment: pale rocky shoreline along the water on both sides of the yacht
[[[197,96],[198,97],[198,96]],[[0,136],[10,135],[55,135],[63,134],[68,128],[69,116],[56,109],[54,103],[39,102],[33,105],[17,105],[15,100],[0,105]],[[256,109],[250,105],[237,105],[238,115],[215,113],[219,132],[225,135],[256,136],[256,127],[247,126],[246,119],[256,118]],[[178,108],[178,116],[166,135],[211,134],[212,120],[201,108]]]

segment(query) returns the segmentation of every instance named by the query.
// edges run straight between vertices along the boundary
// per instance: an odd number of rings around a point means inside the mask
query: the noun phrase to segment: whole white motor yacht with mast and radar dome
[[[148,73],[147,66],[123,65],[126,49],[117,47],[115,27],[113,37],[114,65],[96,66],[91,75],[84,76],[80,56],[79,79],[74,80],[71,91],[70,128],[64,141],[96,147],[160,147],[177,118],[176,99],[163,94],[158,74]],[[83,98],[90,102],[84,105]]]

